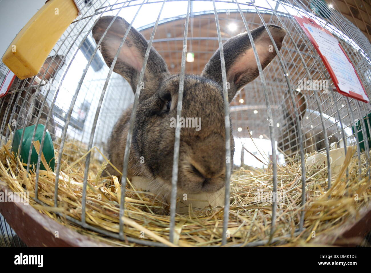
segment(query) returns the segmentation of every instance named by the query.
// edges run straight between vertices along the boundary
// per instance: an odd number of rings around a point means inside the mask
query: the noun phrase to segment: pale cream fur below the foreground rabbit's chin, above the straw
[[[150,182],[143,176],[133,176],[131,179],[132,185],[137,191],[149,191],[155,195],[165,198],[165,201],[170,204],[170,189],[159,188],[155,183]],[[222,207],[224,205],[224,187],[217,192],[189,194],[178,190],[177,198],[177,212],[188,212],[188,207],[193,209],[204,209],[205,207]]]

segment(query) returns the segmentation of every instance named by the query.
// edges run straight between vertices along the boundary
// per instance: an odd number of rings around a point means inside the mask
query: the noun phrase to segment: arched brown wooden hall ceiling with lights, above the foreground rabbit
[[[335,10],[342,12],[345,17],[359,27],[366,38],[371,40],[370,1],[371,0],[328,0],[327,3],[332,3]],[[339,9],[337,9],[337,7],[339,7]],[[359,8],[358,12],[355,12],[356,7]],[[245,12],[244,16],[250,29],[254,29],[262,25],[262,21],[256,13]],[[237,35],[238,33],[246,31],[241,16],[238,12],[230,12],[229,14],[226,14],[225,12],[219,13],[218,17],[223,42],[228,38]],[[282,25],[276,16],[272,14],[262,13],[262,17],[266,23]],[[295,65],[299,62],[299,54],[297,52],[297,49],[299,49],[299,52],[305,61],[309,62],[307,63],[307,66],[311,67],[313,72],[316,72],[316,67],[313,67],[311,63],[314,59],[316,59],[316,57],[311,55],[311,46],[307,45],[308,40],[304,37],[301,37],[301,29],[298,29],[298,25],[296,22],[293,22],[292,18],[282,16],[280,17],[280,20],[282,20],[286,29],[288,29],[290,34],[293,36],[297,46],[293,46],[290,40],[288,40],[288,37],[285,38],[283,49],[288,50],[289,52],[286,52],[286,54],[290,55],[290,58],[285,60],[288,65],[288,70],[290,71],[290,69],[296,69],[296,73],[300,74],[304,72],[304,69],[295,67]],[[153,41],[154,48],[165,59],[170,72],[174,74],[180,72],[184,24],[184,18],[159,24]],[[236,26],[235,30],[230,30],[229,26],[232,24]],[[346,32],[346,30],[347,29],[342,29],[344,32]],[[151,32],[152,27],[141,30],[141,33],[147,39],[150,38]],[[214,14],[211,13],[191,16],[188,27],[187,52],[194,53],[194,62],[186,63],[186,73],[199,75],[207,61],[209,61],[210,57],[218,48],[219,45],[217,40]],[[285,51],[283,51],[283,54],[285,54]],[[298,69],[301,69],[302,72],[299,72]]]

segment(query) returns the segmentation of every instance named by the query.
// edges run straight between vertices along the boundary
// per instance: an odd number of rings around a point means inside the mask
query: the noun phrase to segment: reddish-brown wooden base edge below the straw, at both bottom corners
[[[0,187],[0,191],[5,189]],[[0,202],[0,213],[29,247],[112,247],[59,224],[31,205]],[[59,238],[55,238],[55,231],[59,231]],[[371,205],[362,208],[355,219],[349,219],[334,231],[318,235],[313,243],[355,247],[370,231]]]

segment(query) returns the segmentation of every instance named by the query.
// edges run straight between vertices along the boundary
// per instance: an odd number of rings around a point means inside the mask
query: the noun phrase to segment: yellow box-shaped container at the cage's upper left
[[[14,38],[3,56],[3,63],[20,79],[37,75],[78,13],[73,0],[48,1]]]

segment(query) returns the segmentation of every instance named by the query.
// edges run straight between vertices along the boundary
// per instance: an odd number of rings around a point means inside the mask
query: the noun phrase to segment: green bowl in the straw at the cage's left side
[[[43,124],[37,124],[34,142],[39,140],[41,144],[41,139],[43,136],[44,129],[45,129],[45,126]],[[20,160],[23,163],[27,163],[28,154],[29,154],[30,147],[31,147],[32,135],[33,135],[34,130],[35,130],[35,125],[24,128],[23,142],[22,142],[21,150],[20,150]],[[12,151],[15,154],[18,153],[19,144],[20,144],[20,140],[22,137],[22,132],[23,132],[23,129],[19,129],[14,133]],[[36,168],[38,152],[39,151],[36,151],[35,147],[32,148],[30,169],[33,168],[33,166],[31,165],[35,165],[35,168]],[[46,134],[45,134],[43,154],[46,159],[46,162],[49,163],[49,168],[52,171],[54,171],[54,168],[55,168],[54,147],[53,147],[52,137],[50,136],[50,133],[48,130],[46,130]],[[40,162],[40,170],[46,170],[42,162]]]

